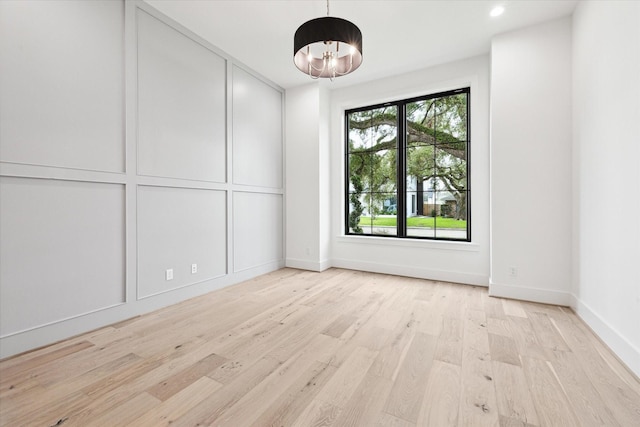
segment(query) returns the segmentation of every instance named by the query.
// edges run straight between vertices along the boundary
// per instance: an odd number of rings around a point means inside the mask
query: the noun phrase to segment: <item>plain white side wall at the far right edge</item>
[[[573,306],[640,376],[640,3],[573,16]]]

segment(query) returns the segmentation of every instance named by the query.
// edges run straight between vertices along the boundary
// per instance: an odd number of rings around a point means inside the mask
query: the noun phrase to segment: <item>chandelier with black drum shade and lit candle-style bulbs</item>
[[[293,62],[313,79],[344,76],[362,63],[362,33],[346,19],[327,16],[302,24],[293,38]]]

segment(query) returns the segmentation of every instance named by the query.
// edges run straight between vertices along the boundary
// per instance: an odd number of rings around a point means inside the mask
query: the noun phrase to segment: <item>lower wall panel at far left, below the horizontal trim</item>
[[[124,303],[124,186],[0,178],[0,334]]]

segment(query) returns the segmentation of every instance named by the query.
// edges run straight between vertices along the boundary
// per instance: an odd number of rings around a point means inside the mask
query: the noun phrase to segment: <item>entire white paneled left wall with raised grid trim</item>
[[[146,3],[0,2],[0,94],[0,357],[284,265],[283,90]]]

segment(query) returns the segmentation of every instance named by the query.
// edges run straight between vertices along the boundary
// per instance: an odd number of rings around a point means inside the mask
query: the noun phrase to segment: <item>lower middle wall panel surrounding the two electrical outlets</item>
[[[139,186],[138,297],[224,276],[226,213],[224,191]]]

